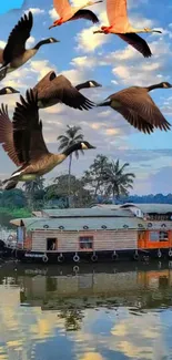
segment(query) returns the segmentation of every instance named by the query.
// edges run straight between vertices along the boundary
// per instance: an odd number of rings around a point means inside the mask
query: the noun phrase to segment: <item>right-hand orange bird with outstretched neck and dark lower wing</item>
[[[161,31],[149,28],[133,28],[128,18],[127,0],[107,0],[107,14],[110,27],[101,27],[101,30],[97,30],[93,33],[114,33],[136,49],[144,58],[152,55],[148,43],[136,32],[161,33]]]

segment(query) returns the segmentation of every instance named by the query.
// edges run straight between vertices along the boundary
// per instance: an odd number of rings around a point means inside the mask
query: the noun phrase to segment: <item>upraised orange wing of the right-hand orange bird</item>
[[[129,23],[127,0],[107,0],[107,14],[110,25],[119,23],[124,28]]]

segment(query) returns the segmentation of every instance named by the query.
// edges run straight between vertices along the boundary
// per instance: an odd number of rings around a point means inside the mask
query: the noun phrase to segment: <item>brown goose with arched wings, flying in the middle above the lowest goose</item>
[[[49,107],[62,102],[73,109],[89,110],[94,106],[94,103],[83,96],[79,90],[95,86],[101,85],[92,80],[74,88],[65,76],[57,76],[54,71],[50,71],[34,86],[33,91],[38,92],[38,105],[40,109]]]

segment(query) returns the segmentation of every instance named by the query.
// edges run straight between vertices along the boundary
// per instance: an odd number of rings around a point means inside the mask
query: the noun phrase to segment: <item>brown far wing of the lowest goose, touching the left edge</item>
[[[1,105],[0,109],[0,144],[12,162],[20,166],[21,163],[16,153],[13,144],[13,126],[8,114],[8,106]]]

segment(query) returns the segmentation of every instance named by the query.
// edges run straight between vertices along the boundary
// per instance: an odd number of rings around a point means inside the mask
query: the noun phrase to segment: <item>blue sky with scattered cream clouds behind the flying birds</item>
[[[19,1],[13,2],[14,6]],[[20,1],[21,2],[21,1]],[[84,0],[74,0],[75,4]],[[8,1],[6,1],[8,4]],[[130,0],[129,16],[135,28],[154,27],[162,30],[160,34],[142,34],[146,39],[153,56],[144,59],[140,53],[128,47],[115,35],[93,35],[98,27],[79,20],[48,30],[54,19],[58,19],[52,8],[52,1],[27,0],[20,10],[9,11],[0,16],[0,48],[3,48],[12,27],[23,12],[32,9],[34,25],[28,48],[33,47],[42,38],[54,37],[61,42],[44,45],[40,52],[20,71],[8,75],[2,85],[12,85],[24,94],[27,88],[33,86],[48,71],[63,73],[73,84],[85,80],[97,80],[101,89],[84,90],[89,99],[99,102],[113,92],[130,85],[151,85],[161,81],[172,82],[172,4],[165,6],[160,0]],[[105,0],[92,7],[101,24],[107,24]],[[155,103],[166,120],[172,123],[172,90],[151,92]],[[18,95],[3,96],[10,114]],[[130,162],[135,172],[134,194],[172,192],[172,142],[171,132],[156,131],[152,135],[139,133],[130,126],[118,113],[109,107],[94,109],[90,112],[71,110],[64,105],[49,107],[40,112],[43,120],[43,133],[51,151],[57,152],[57,137],[62,134],[67,124],[82,126],[85,140],[97,146],[95,151],[87,152],[79,161],[73,162],[73,174],[80,175],[93,161],[98,153],[105,154],[121,162]],[[14,169],[8,156],[0,151],[1,178],[9,176]],[[48,179],[67,172],[68,161],[48,175]]]

